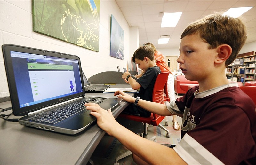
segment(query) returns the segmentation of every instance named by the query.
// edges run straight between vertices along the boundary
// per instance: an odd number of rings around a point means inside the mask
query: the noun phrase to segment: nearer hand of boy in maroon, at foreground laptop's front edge
[[[108,109],[108,111],[106,111],[95,103],[85,103],[84,106],[86,106],[86,109],[91,110],[91,115],[97,118],[98,126],[106,131],[108,135],[113,136],[113,131],[115,131],[115,128],[118,127],[119,124],[113,117],[111,110]]]

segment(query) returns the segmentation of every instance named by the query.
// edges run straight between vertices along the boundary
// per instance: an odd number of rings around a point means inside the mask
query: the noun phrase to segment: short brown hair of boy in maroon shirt
[[[246,41],[246,27],[239,18],[222,14],[217,12],[192,22],[183,31],[180,39],[197,33],[203,41],[209,44],[208,49],[215,49],[221,44],[228,44],[232,48],[232,53],[225,62],[225,65],[228,66],[236,59]]]

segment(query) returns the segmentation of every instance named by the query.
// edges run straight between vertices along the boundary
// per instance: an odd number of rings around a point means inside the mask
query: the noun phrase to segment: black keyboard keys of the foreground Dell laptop
[[[93,102],[93,103],[100,104],[106,99],[107,98],[101,98],[101,97],[84,98],[68,106],[63,106],[63,107],[54,109],[50,112],[41,112],[39,114],[35,114],[33,118],[29,119],[29,121],[56,124],[84,110],[84,107],[85,107],[84,103]]]

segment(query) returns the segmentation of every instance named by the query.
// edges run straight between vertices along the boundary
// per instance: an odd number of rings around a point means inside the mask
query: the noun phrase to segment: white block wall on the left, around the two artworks
[[[124,30],[124,60],[109,56],[111,14]],[[0,0],[0,21],[0,45],[16,44],[77,55],[81,58],[87,78],[103,71],[117,71],[116,65],[126,66],[130,61],[130,27],[114,0],[100,1],[99,52],[33,32],[31,0]],[[0,51],[0,98],[9,95],[3,54]]]

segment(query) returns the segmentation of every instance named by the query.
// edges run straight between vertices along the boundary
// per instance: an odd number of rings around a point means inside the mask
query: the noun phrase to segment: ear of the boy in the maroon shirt
[[[232,53],[232,48],[228,44],[222,44],[217,48],[218,55],[215,58],[215,63],[220,64],[223,63],[225,64],[226,60],[229,58],[229,56]]]

